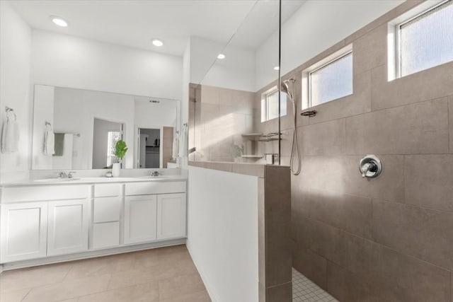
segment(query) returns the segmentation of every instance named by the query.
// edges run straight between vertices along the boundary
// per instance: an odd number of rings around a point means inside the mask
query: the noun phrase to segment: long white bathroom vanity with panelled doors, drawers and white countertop
[[[1,186],[4,267],[184,243],[187,179],[79,178]]]

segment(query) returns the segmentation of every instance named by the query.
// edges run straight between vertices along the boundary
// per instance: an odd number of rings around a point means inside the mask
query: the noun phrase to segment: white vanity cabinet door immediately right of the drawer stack
[[[156,195],[125,197],[125,244],[156,240]]]

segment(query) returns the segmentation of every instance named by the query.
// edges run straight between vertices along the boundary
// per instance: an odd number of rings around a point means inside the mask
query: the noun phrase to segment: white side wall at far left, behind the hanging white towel
[[[1,153],[1,181],[30,168],[30,27],[7,1],[0,1],[0,124],[5,106],[14,109],[21,132],[18,151]],[[1,175],[0,174],[0,175]]]

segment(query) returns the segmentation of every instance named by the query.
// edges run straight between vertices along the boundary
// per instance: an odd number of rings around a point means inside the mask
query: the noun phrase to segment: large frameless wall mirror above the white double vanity
[[[32,168],[111,168],[120,139],[122,168],[171,168],[179,115],[178,100],[35,85]]]

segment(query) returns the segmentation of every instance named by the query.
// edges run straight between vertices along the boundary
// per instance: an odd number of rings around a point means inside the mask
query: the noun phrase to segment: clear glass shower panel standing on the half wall
[[[190,86],[190,160],[277,163],[278,8],[278,1],[254,1],[226,45],[196,41],[210,45],[215,61]],[[264,108],[271,118],[262,121]]]

